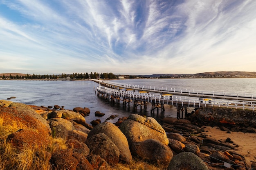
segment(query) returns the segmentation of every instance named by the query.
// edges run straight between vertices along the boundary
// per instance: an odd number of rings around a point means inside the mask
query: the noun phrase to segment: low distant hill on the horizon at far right
[[[256,72],[239,72],[239,71],[235,71],[235,72],[204,72],[204,73],[197,73],[194,74],[195,76],[221,76],[221,75],[230,75],[230,76],[236,76],[236,75],[240,75],[240,76],[256,76]]]

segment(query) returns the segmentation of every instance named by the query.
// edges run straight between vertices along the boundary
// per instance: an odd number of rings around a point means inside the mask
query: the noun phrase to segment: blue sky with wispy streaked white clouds
[[[256,71],[256,0],[0,0],[0,73]]]

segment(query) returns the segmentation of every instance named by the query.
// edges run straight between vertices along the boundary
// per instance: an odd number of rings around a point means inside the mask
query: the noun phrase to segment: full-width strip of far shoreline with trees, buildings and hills
[[[0,79],[131,79],[131,78],[256,78],[256,72],[205,72],[197,74],[150,74],[128,75],[113,73],[73,73],[73,74],[21,74],[0,73]]]

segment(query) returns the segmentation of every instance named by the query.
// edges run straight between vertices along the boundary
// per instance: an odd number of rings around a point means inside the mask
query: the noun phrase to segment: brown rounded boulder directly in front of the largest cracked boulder
[[[171,149],[155,139],[148,139],[143,142],[132,144],[132,153],[141,159],[155,163],[157,166],[167,168],[173,157]]]

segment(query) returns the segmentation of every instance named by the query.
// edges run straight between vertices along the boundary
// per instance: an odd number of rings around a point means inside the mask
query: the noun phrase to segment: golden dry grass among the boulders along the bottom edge
[[[22,149],[13,147],[7,141],[9,134],[19,129],[31,129],[24,122],[0,116],[0,170],[49,170],[49,159],[56,150],[66,149],[65,140],[49,139],[43,146],[25,146]],[[35,130],[36,131],[36,130]],[[118,163],[114,167],[103,167],[100,170],[163,170],[164,168],[135,160],[130,164]]]

